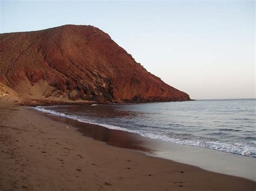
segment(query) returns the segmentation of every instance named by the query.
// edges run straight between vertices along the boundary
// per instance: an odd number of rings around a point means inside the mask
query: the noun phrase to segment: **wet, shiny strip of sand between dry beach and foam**
[[[53,121],[71,125],[76,131],[82,133],[83,136],[104,142],[110,146],[127,148],[143,152],[152,157],[196,166],[206,171],[256,181],[255,172],[252,168],[256,162],[254,157],[152,139],[130,131],[109,129],[98,124],[80,122],[76,119],[38,111],[35,108],[31,109]],[[86,127],[84,128],[84,126]]]

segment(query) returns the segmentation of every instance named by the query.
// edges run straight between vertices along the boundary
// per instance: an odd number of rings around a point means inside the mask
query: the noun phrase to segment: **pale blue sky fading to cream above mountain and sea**
[[[193,99],[255,97],[254,1],[0,2],[0,33],[93,25]]]

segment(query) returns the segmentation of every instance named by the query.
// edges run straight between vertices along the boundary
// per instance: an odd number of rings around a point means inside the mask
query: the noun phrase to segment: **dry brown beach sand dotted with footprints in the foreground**
[[[106,145],[3,99],[0,108],[0,190],[256,188],[250,180]]]

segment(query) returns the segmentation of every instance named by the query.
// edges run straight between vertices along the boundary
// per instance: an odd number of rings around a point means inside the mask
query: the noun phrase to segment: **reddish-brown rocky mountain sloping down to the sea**
[[[190,100],[183,91],[147,72],[108,34],[93,26],[0,34],[0,66],[0,83],[28,99]]]

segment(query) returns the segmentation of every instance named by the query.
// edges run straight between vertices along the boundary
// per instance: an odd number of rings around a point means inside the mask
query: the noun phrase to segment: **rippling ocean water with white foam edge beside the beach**
[[[256,157],[256,99],[36,107],[166,142]]]

